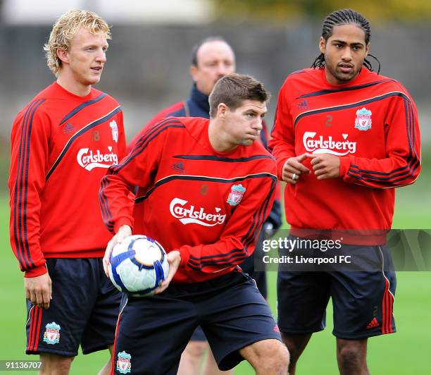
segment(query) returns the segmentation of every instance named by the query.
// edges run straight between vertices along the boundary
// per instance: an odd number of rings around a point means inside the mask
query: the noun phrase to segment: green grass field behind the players
[[[428,179],[399,190],[394,228],[430,228],[431,197]],[[0,195],[0,243],[4,250],[0,264],[3,292],[0,326],[0,360],[28,359],[25,348],[25,299],[23,276],[8,241],[8,199]],[[275,272],[268,272],[269,301],[275,311]],[[431,374],[431,272],[399,272],[394,303],[398,332],[369,340],[368,364],[371,374]],[[327,310],[327,328],[316,333],[298,364],[298,374],[338,374],[335,338],[332,336],[332,307]],[[107,360],[107,352],[79,355],[72,374],[97,374]],[[36,359],[36,358],[35,358]],[[20,373],[20,372],[18,372]],[[23,374],[31,374],[30,371]],[[244,362],[236,375],[254,374]]]

